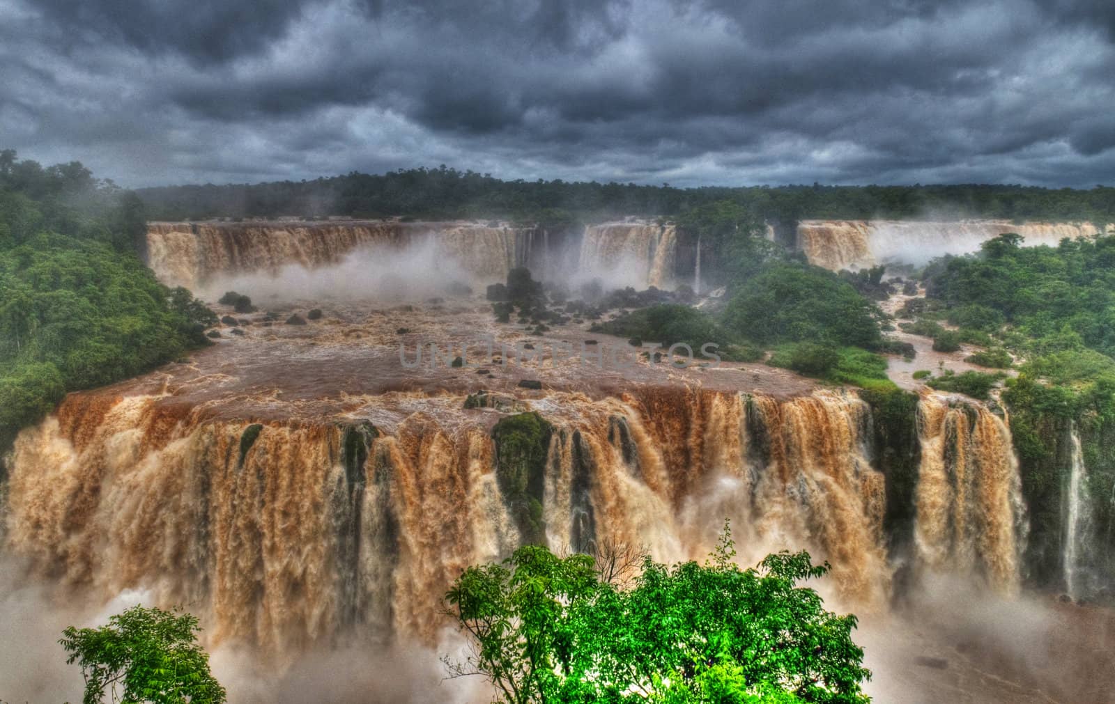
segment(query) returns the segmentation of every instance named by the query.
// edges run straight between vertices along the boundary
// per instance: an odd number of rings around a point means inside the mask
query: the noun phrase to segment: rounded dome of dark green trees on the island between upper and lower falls
[[[780,262],[739,287],[723,322],[735,334],[759,344],[808,341],[872,349],[882,341],[881,315],[836,274]]]

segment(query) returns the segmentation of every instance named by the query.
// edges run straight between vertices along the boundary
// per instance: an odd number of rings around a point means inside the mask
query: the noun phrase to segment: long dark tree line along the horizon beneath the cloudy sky
[[[139,188],[153,219],[329,215],[357,218],[500,218],[560,226],[623,215],[678,216],[715,202],[736,203],[773,222],[986,217],[1115,222],[1115,187],[1021,185],[702,186],[615,182],[503,180],[491,174],[410,168],[311,180]]]

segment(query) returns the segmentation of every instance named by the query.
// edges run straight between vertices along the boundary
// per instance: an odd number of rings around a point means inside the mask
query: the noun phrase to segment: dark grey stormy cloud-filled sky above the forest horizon
[[[0,0],[0,147],[127,186],[1111,185],[1115,1]]]

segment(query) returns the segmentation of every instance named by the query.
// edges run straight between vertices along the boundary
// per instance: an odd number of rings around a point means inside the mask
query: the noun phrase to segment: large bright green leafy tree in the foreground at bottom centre
[[[797,586],[827,565],[783,551],[741,569],[734,556],[726,526],[707,564],[648,558],[624,588],[589,556],[522,547],[469,567],[446,595],[472,655],[445,663],[487,677],[508,704],[869,702],[855,616]]]

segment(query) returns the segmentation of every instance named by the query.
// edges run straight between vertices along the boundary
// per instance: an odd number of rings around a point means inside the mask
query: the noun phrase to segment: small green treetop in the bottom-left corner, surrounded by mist
[[[122,704],[223,704],[224,687],[210,673],[191,614],[134,606],[100,628],[62,632],[59,641],[85,677],[84,704],[105,696]]]

